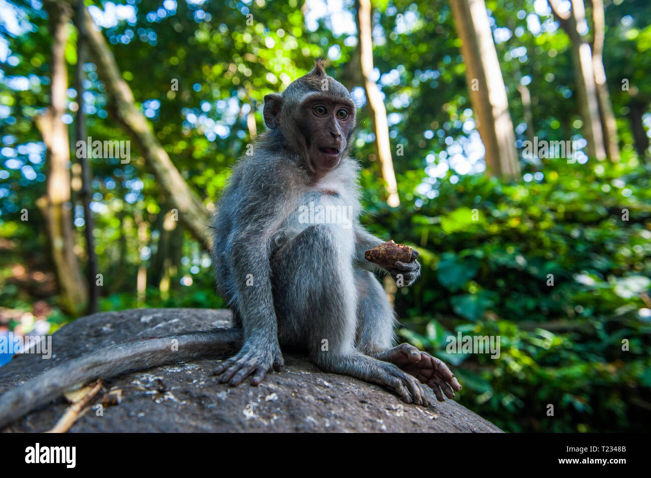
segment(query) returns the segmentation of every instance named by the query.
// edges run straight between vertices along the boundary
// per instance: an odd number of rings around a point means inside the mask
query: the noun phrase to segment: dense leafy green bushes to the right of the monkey
[[[642,431],[651,410],[648,171],[559,161],[540,172],[541,181],[508,184],[452,184],[449,173],[420,208],[406,200],[400,211],[369,211],[369,222],[423,252],[422,278],[396,297],[401,334],[457,364],[462,403],[505,430]],[[448,355],[445,339],[457,332],[499,335],[501,355]]]

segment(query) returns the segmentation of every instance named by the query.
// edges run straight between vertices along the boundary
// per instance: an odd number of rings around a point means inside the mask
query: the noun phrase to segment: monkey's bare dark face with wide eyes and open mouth
[[[339,165],[348,152],[355,125],[355,109],[347,100],[327,96],[311,98],[301,105],[301,129],[307,147],[307,167],[324,174]]]

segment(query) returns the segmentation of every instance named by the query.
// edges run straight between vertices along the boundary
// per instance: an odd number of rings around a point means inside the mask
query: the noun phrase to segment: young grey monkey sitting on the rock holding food
[[[411,261],[380,267],[365,251],[383,243],[359,220],[359,165],[350,157],[356,109],[324,60],[264,97],[267,131],[234,166],[212,224],[217,291],[232,310],[228,328],[111,345],[46,370],[0,395],[0,428],[96,378],[198,358],[223,360],[221,383],[256,386],[284,365],[281,349],[321,369],[380,384],[402,401],[430,405],[462,389],[441,360],[394,346],[396,315],[376,274],[413,284]],[[178,341],[178,350],[170,347]]]

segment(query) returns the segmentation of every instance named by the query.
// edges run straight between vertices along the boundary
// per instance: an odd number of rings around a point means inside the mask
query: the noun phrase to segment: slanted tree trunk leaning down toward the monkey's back
[[[210,213],[203,202],[189,187],[172,163],[169,155],[154,135],[145,115],[135,107],[135,100],[129,85],[122,79],[115,57],[106,40],[95,26],[88,10],[84,12],[88,45],[98,70],[102,73],[107,91],[117,105],[118,119],[138,142],[145,156],[146,164],[156,176],[158,185],[165,190],[170,202],[178,208],[179,219],[208,248],[212,247],[210,235]]]

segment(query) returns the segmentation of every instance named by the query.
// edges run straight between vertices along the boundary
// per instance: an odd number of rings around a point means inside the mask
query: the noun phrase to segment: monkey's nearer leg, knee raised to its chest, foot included
[[[310,226],[271,261],[281,344],[302,343],[325,371],[386,386],[406,403],[426,406],[415,378],[355,349],[357,291],[352,250],[341,233]]]

